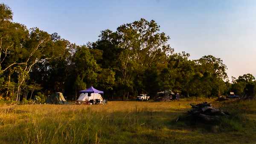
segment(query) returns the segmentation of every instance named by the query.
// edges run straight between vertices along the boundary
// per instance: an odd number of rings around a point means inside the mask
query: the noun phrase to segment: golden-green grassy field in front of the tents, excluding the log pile
[[[175,122],[190,103],[212,102],[233,113],[220,125]],[[109,101],[106,105],[0,105],[0,143],[256,143],[256,101]]]

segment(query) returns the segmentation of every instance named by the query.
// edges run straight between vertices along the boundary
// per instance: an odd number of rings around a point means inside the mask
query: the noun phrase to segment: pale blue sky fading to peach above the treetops
[[[256,0],[0,0],[13,20],[79,45],[102,30],[155,20],[175,52],[221,58],[227,73],[256,76]]]

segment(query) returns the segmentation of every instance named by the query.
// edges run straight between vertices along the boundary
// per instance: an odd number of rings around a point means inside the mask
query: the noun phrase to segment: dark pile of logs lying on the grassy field
[[[220,121],[221,116],[228,117],[227,112],[212,107],[212,104],[204,102],[201,104],[190,104],[192,109],[188,111],[187,117],[204,122]]]

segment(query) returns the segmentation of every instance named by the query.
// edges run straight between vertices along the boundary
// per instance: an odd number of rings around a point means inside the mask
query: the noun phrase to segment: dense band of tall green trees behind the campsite
[[[35,27],[12,21],[12,10],[0,4],[0,99],[22,101],[63,92],[75,100],[79,90],[94,86],[108,99],[154,97],[171,89],[185,97],[254,96],[251,74],[228,81],[220,58],[191,60],[177,53],[154,20],[143,18],[100,32],[98,40],[76,45]]]

